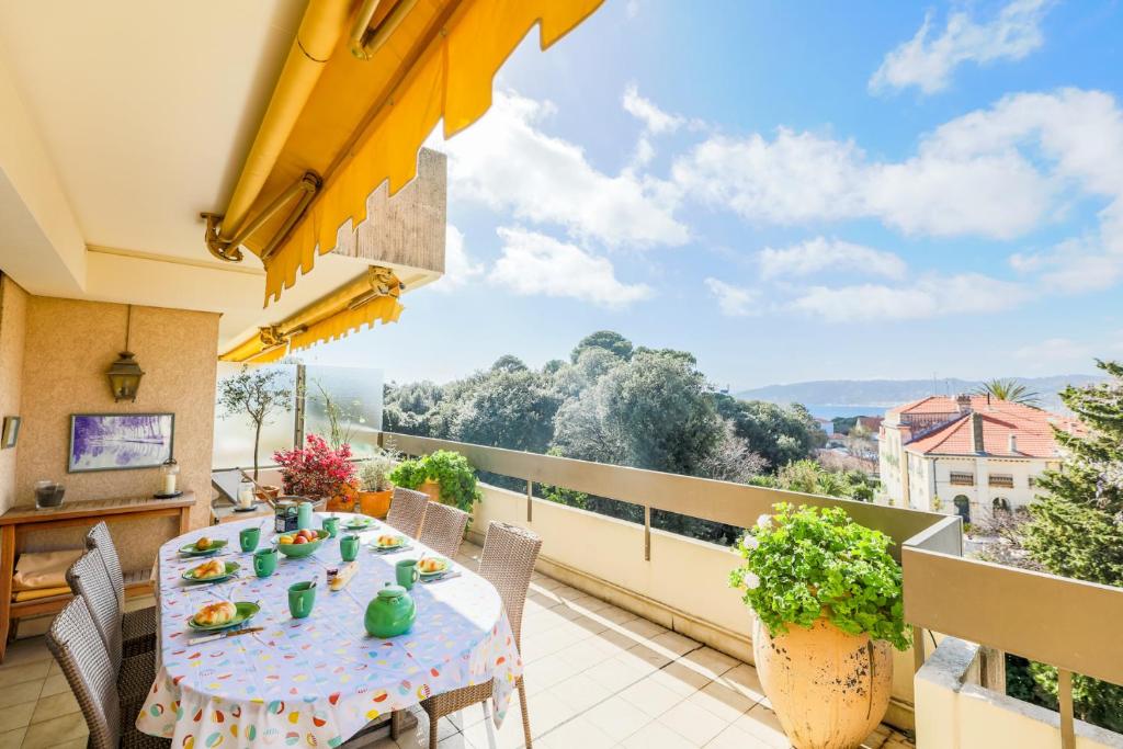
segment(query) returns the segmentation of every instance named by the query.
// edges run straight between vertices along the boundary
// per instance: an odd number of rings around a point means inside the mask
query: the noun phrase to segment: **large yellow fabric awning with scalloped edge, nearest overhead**
[[[343,34],[248,211],[261,212],[309,171],[323,179],[302,220],[265,258],[266,304],[336,247],[340,227],[365,220],[367,197],[384,181],[393,194],[414,177],[418,149],[438,121],[448,138],[487,110],[495,73],[536,24],[546,49],[601,2],[416,0],[366,61],[350,54]],[[372,27],[393,8],[380,3]],[[273,217],[245,245],[261,255],[283,223],[283,213]]]

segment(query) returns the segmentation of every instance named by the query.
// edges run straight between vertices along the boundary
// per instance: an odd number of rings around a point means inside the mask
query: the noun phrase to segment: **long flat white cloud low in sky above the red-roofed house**
[[[976,273],[926,275],[898,286],[858,284],[812,286],[792,309],[830,322],[920,320],[952,314],[998,312],[1020,304],[1026,290]]]

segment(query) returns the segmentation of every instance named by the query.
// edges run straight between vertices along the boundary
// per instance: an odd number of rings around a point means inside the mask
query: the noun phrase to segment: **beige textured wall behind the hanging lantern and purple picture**
[[[18,503],[34,501],[33,487],[40,478],[63,482],[67,502],[152,494],[158,488],[158,468],[67,474],[70,415],[172,412],[181,487],[197,493],[192,520],[203,524],[209,518],[219,316],[134,307],[129,348],[145,376],[135,403],[115,403],[106,371],[124,350],[127,316],[125,304],[28,299]]]

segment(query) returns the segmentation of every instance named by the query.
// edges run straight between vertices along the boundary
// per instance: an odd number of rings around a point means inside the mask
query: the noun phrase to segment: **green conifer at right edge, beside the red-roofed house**
[[[1030,505],[1024,544],[1056,575],[1123,587],[1123,364],[1096,364],[1108,382],[1060,394],[1084,429],[1054,428],[1063,459],[1038,478],[1041,494]],[[1056,695],[1056,669],[1031,668]],[[1074,675],[1072,701],[1081,719],[1123,731],[1123,686]]]

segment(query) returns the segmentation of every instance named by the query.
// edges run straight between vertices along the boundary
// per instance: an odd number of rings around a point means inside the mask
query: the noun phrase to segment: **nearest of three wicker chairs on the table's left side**
[[[127,711],[118,701],[109,654],[81,595],[75,595],[51,623],[47,648],[58,661],[90,728],[88,747],[155,749],[172,746],[168,739],[137,731],[134,725],[136,712]]]

